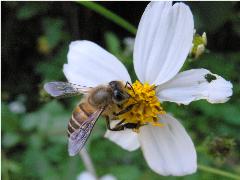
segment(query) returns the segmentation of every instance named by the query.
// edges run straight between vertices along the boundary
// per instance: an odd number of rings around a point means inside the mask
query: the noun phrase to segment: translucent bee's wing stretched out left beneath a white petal
[[[44,89],[53,97],[69,97],[80,94],[87,94],[91,87],[84,87],[68,82],[48,82],[44,84]]]

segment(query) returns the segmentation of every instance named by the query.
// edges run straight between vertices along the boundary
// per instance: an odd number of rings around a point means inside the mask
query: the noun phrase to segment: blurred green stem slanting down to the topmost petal
[[[122,17],[118,16],[114,12],[106,9],[105,7],[91,1],[77,1],[79,4],[101,14],[105,18],[111,20],[112,22],[116,23],[117,25],[123,27],[127,31],[129,31],[132,34],[136,34],[137,29],[135,26],[133,26],[131,23],[123,19]]]

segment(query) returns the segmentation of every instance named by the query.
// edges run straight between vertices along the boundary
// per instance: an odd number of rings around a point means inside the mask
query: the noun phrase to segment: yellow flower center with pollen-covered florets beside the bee
[[[125,123],[136,123],[141,125],[151,124],[154,126],[162,126],[158,122],[159,115],[165,114],[161,104],[156,96],[155,85],[148,83],[140,83],[136,81],[132,84],[132,88],[128,88],[128,93],[132,98],[123,104],[123,109],[131,106],[130,111],[118,116]]]

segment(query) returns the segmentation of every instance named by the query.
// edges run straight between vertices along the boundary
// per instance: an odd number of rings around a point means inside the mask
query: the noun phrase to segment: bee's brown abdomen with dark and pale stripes
[[[86,103],[80,103],[72,113],[68,122],[68,137],[82,125],[84,121],[92,114],[91,107]]]

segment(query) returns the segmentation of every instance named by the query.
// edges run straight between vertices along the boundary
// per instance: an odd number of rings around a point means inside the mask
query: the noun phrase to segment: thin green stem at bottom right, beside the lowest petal
[[[225,176],[225,177],[228,177],[228,178],[232,178],[232,179],[240,179],[239,175],[235,175],[235,174],[230,173],[230,172],[226,172],[226,171],[223,171],[223,170],[220,170],[220,169],[208,167],[208,166],[201,165],[201,164],[198,164],[198,169],[202,170],[202,171],[210,172],[210,173],[213,173],[213,174]]]

